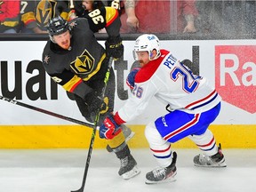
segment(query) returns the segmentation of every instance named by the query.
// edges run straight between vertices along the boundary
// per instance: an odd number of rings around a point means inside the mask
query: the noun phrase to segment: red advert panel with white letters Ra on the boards
[[[223,100],[256,112],[256,46],[215,46],[215,84]]]

